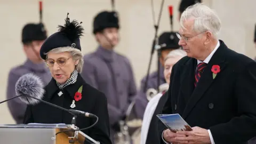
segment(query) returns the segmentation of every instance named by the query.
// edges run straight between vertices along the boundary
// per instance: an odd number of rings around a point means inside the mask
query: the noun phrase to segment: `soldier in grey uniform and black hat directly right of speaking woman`
[[[119,121],[137,93],[129,59],[114,51],[119,42],[116,12],[102,11],[93,21],[93,34],[99,43],[97,50],[84,55],[82,76],[87,83],[106,94],[110,120],[110,135],[120,131]]]

